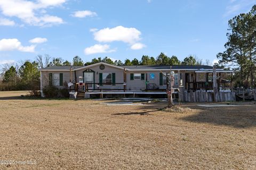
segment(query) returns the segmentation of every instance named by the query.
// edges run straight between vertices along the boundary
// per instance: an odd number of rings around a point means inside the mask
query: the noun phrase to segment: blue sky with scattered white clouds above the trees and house
[[[228,20],[256,0],[0,0],[0,64],[49,54],[84,62],[164,52],[216,60]]]

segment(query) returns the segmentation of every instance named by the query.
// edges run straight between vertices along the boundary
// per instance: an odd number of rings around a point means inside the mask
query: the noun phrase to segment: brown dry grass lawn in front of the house
[[[21,93],[0,92],[0,160],[36,165],[0,169],[256,169],[253,103],[183,104],[193,110],[180,114],[159,111],[165,103],[8,97]]]

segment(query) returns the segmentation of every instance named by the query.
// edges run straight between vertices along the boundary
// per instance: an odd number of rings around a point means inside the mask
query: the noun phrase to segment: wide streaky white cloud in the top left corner
[[[59,6],[65,2],[66,0],[38,0],[36,2],[27,0],[8,0],[0,1],[0,9],[2,10],[3,15],[17,17],[27,24],[51,26],[54,24],[61,24],[63,23],[63,20],[58,16],[45,14],[45,8]],[[42,13],[42,11],[44,11],[44,13]]]

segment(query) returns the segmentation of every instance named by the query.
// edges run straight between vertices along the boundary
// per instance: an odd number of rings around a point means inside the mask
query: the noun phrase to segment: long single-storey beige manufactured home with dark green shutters
[[[97,63],[86,66],[49,66],[41,71],[41,91],[52,83],[53,86],[64,88],[69,83],[71,91],[97,94],[164,94],[166,77],[170,69],[174,71],[174,88],[183,91],[211,90],[213,88],[213,67],[207,65],[138,65],[116,66]],[[232,88],[233,71],[216,70],[218,84],[222,89]],[[71,83],[70,83],[71,82]]]

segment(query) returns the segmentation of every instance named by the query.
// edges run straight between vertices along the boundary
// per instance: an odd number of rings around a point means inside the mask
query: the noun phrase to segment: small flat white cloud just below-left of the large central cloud
[[[115,52],[115,49],[110,49],[109,45],[95,44],[94,46],[87,47],[84,49],[85,55],[97,54],[97,53],[111,53]]]

